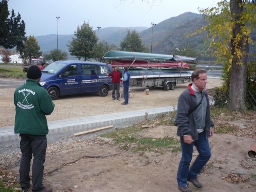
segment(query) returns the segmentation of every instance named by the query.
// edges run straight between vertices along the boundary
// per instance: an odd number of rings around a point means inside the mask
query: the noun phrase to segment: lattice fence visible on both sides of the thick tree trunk
[[[224,92],[220,89],[215,89],[214,105],[217,107],[228,107],[230,100],[230,93]],[[247,108],[256,110],[256,93],[250,91],[246,94]]]

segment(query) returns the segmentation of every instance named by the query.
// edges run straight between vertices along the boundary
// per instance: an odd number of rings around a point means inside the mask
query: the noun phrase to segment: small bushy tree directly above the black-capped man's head
[[[42,55],[42,52],[39,50],[40,46],[35,37],[29,35],[29,39],[25,40],[24,48],[20,52],[20,56],[24,59],[29,59],[29,63],[31,64],[32,58],[38,58]]]

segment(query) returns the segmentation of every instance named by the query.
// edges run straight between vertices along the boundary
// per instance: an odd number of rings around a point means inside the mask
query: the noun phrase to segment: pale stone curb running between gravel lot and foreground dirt
[[[74,134],[81,131],[88,131],[103,126],[113,125],[116,128],[132,125],[147,119],[154,119],[160,114],[173,111],[172,106],[163,108],[152,108],[138,111],[127,111],[122,113],[111,113],[97,116],[87,116],[83,118],[64,119],[49,121],[49,134],[70,133]],[[14,126],[0,128],[0,143],[12,140],[19,140],[19,135],[14,133]]]

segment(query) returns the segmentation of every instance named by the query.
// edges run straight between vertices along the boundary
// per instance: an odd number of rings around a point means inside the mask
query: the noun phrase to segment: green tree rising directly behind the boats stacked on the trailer
[[[122,51],[149,52],[149,49],[142,44],[142,39],[136,30],[127,30],[127,35],[120,42]]]

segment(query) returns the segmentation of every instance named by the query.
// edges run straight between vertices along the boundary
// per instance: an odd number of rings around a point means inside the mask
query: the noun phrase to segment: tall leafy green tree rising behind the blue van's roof
[[[70,55],[76,56],[81,59],[84,57],[84,61],[88,58],[93,57],[93,47],[97,44],[98,38],[93,31],[93,27],[89,26],[89,23],[83,23],[81,26],[77,27],[75,31],[76,38],[72,38],[69,41],[69,52]]]

